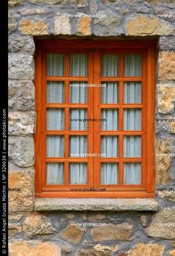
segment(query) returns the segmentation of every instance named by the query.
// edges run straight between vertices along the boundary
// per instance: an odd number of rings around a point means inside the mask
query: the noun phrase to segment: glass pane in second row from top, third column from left
[[[118,82],[103,82],[101,103],[118,103]]]

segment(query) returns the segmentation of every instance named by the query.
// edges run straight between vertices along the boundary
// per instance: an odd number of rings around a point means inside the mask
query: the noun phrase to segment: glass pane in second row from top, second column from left
[[[70,103],[87,102],[87,83],[70,82]]]

